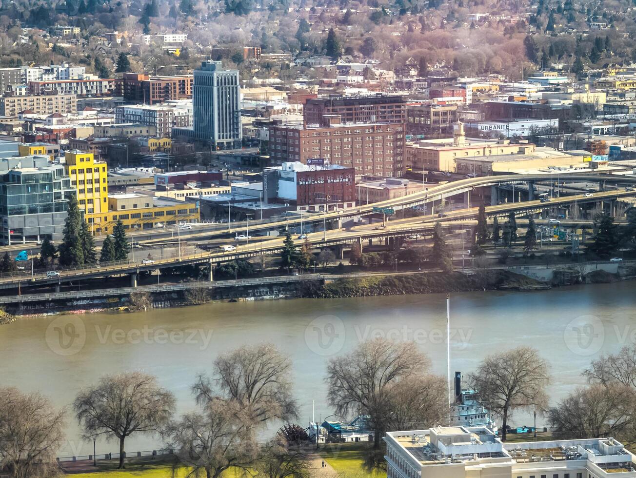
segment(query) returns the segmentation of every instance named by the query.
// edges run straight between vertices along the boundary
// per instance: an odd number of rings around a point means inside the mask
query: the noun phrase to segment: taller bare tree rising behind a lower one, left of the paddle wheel
[[[217,395],[214,384],[225,400],[236,400],[249,409],[252,421],[288,420],[298,413],[291,389],[291,360],[270,343],[242,346],[214,360],[214,378],[199,375],[193,385],[197,403],[205,404]]]

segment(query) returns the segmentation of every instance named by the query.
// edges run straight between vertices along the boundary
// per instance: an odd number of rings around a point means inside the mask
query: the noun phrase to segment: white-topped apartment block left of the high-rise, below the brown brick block
[[[115,107],[115,123],[154,126],[159,137],[172,136],[172,128],[190,126],[187,109],[158,105],[125,105]]]

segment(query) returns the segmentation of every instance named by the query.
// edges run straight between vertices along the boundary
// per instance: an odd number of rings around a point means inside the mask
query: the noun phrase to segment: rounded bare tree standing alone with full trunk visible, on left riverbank
[[[120,442],[124,468],[124,441],[134,433],[158,432],[174,410],[174,396],[160,388],[156,377],[142,372],[104,375],[99,383],[79,392],[73,409],[85,439],[106,435]]]

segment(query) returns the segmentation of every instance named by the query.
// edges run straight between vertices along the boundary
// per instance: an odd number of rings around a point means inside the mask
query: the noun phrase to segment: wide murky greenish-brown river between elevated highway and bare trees
[[[636,336],[634,282],[582,285],[540,292],[466,292],[451,297],[451,373],[467,373],[488,353],[531,345],[551,363],[552,402],[577,385],[581,371],[602,353]],[[60,456],[92,453],[82,442],[70,404],[82,386],[104,373],[142,370],[158,376],[177,399],[179,413],[194,408],[190,385],[218,353],[272,341],[289,354],[298,423],[307,426],[315,400],[326,404],[325,365],[361,339],[415,340],[446,373],[445,294],[214,303],[139,313],[92,313],[18,320],[0,327],[2,385],[38,391],[67,407],[67,443]],[[512,422],[531,425],[518,414]],[[543,421],[537,418],[537,425]],[[139,435],[127,451],[148,450],[158,439]],[[98,440],[98,453],[116,451]]]

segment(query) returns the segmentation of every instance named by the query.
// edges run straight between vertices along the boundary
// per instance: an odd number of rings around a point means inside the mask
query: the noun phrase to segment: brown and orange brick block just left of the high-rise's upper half
[[[192,98],[193,75],[148,76],[124,73],[115,80],[115,95],[127,102],[157,104]]]

